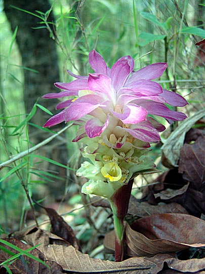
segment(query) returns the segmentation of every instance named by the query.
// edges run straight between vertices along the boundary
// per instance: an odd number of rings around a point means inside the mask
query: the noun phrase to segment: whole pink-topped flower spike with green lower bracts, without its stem
[[[89,179],[82,191],[110,197],[116,189],[137,174],[155,166],[144,156],[150,143],[160,140],[167,121],[182,121],[186,115],[170,110],[167,105],[183,107],[187,101],[152,81],[166,70],[166,63],[154,63],[134,72],[134,59],[121,57],[109,68],[103,57],[92,50],[89,63],[94,73],[77,76],[70,83],[55,83],[63,89],[44,98],[68,97],[56,109],[63,109],[50,118],[44,127],[63,121],[79,125],[74,142],[86,144],[81,151],[91,162],[84,162],[78,176]]]

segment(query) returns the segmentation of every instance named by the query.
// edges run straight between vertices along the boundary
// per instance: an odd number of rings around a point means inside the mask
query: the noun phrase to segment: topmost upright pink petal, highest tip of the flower
[[[89,63],[95,73],[107,75],[107,65],[105,60],[96,50],[92,50],[89,53]]]

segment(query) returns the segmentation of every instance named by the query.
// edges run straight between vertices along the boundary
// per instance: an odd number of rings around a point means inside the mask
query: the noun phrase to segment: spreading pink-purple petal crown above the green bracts
[[[155,120],[156,116],[168,121],[181,121],[186,118],[184,113],[172,111],[166,105],[183,107],[187,101],[179,94],[162,89],[158,83],[151,81],[162,75],[166,70],[166,63],[154,63],[134,72],[134,59],[124,56],[110,69],[95,50],[89,54],[89,63],[94,73],[89,76],[76,76],[68,71],[76,80],[70,83],[55,83],[64,91],[43,96],[72,96],[57,105],[57,109],[64,110],[50,118],[44,127],[63,121],[80,120],[82,127],[74,141],[85,136],[95,138],[108,129],[104,134],[107,142],[111,132],[110,143],[118,143],[120,146],[126,141],[122,141],[122,136],[125,135],[130,140],[134,138],[146,143],[158,142],[158,132],[163,131],[165,127]],[[113,130],[118,133],[115,135]]]

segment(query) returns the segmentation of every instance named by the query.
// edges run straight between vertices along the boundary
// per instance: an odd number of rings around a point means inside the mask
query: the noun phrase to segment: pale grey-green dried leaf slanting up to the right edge
[[[186,132],[204,116],[205,109],[196,112],[187,118],[170,134],[165,144],[161,147],[162,164],[172,168],[178,166],[180,149],[184,144]]]

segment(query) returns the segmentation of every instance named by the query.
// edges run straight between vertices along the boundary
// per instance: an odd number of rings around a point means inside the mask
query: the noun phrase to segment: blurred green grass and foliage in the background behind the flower
[[[204,3],[194,0],[51,0],[50,3],[55,24],[47,22],[44,14],[36,12],[35,15],[42,16],[39,27],[46,27],[57,44],[61,79],[53,79],[53,82],[72,80],[67,69],[83,75],[91,72],[88,54],[96,48],[109,66],[124,55],[134,57],[136,70],[150,63],[168,62],[168,70],[159,82],[190,102],[180,111],[189,116],[204,107],[204,58],[201,59],[199,47],[195,46],[196,42],[205,38],[204,24],[198,23],[204,22]],[[32,19],[35,15],[29,16]],[[28,126],[38,106],[34,106],[30,114],[25,114],[23,70],[32,70],[32,67],[22,67],[16,33],[11,32],[3,7],[0,28],[0,163],[4,163],[13,155],[37,145],[30,140]],[[42,90],[42,95],[49,92]],[[40,107],[40,111],[45,112],[44,106]],[[54,134],[52,130],[40,130],[47,131],[47,138]],[[67,140],[72,139],[73,130],[68,129]],[[68,141],[67,147],[68,160],[73,163],[78,145]],[[158,153],[159,147],[153,147],[155,159]],[[52,188],[52,184],[60,180],[60,175],[49,174],[44,164],[42,169],[35,167],[36,163],[44,160],[29,153],[4,164],[0,169],[0,233],[3,230],[9,233],[25,226],[26,212],[30,209],[28,197],[33,192],[45,191],[39,185]],[[58,163],[54,161],[53,164]],[[77,166],[72,164],[72,167]],[[38,179],[33,179],[33,174]],[[67,185],[65,189],[68,188]]]

